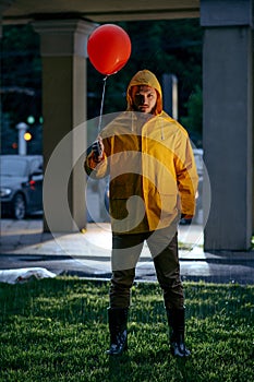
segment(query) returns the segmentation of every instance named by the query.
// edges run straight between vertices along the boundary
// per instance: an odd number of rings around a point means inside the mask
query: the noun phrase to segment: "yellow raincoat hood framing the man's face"
[[[156,103],[156,115],[160,115],[162,112],[162,92],[159,84],[159,81],[155,76],[154,73],[152,73],[149,70],[144,69],[138,71],[131,80],[128,92],[126,92],[126,102],[128,102],[128,111],[133,111],[133,100],[131,97],[131,88],[132,86],[138,86],[138,85],[146,85],[154,87],[157,91],[157,103]]]

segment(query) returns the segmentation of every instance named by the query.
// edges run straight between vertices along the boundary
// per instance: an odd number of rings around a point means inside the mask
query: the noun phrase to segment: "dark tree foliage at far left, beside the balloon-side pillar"
[[[7,25],[1,39],[1,103],[12,124],[41,116],[39,36],[29,24]]]

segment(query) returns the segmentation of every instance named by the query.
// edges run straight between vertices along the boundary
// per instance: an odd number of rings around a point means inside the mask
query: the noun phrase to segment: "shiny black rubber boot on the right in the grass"
[[[185,347],[184,343],[184,308],[183,309],[166,309],[168,324],[170,329],[170,348],[173,356],[189,357],[191,351]]]

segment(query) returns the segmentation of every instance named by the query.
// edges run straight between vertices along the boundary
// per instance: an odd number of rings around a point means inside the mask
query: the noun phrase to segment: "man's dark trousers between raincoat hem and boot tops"
[[[173,232],[169,229],[160,229],[148,234],[113,234],[110,307],[128,308],[130,306],[135,265],[145,240],[154,260],[159,285],[164,291],[165,307],[183,308],[184,297],[180,278],[178,234],[176,229]]]

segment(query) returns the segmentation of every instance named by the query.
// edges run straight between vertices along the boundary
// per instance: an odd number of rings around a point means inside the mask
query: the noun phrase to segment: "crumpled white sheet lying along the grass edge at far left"
[[[47,271],[44,267],[24,267],[17,270],[1,270],[0,283],[17,284],[28,282],[31,278],[47,278],[56,277],[52,272]]]

